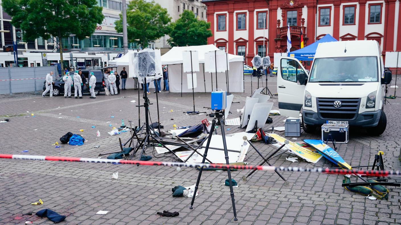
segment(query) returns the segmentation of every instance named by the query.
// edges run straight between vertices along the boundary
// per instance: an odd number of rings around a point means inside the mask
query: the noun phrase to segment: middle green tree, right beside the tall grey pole
[[[141,44],[143,48],[152,40],[161,38],[171,31],[171,17],[167,9],[159,4],[132,0],[127,9],[127,36],[130,42]],[[123,32],[122,14],[115,21],[115,30]]]

